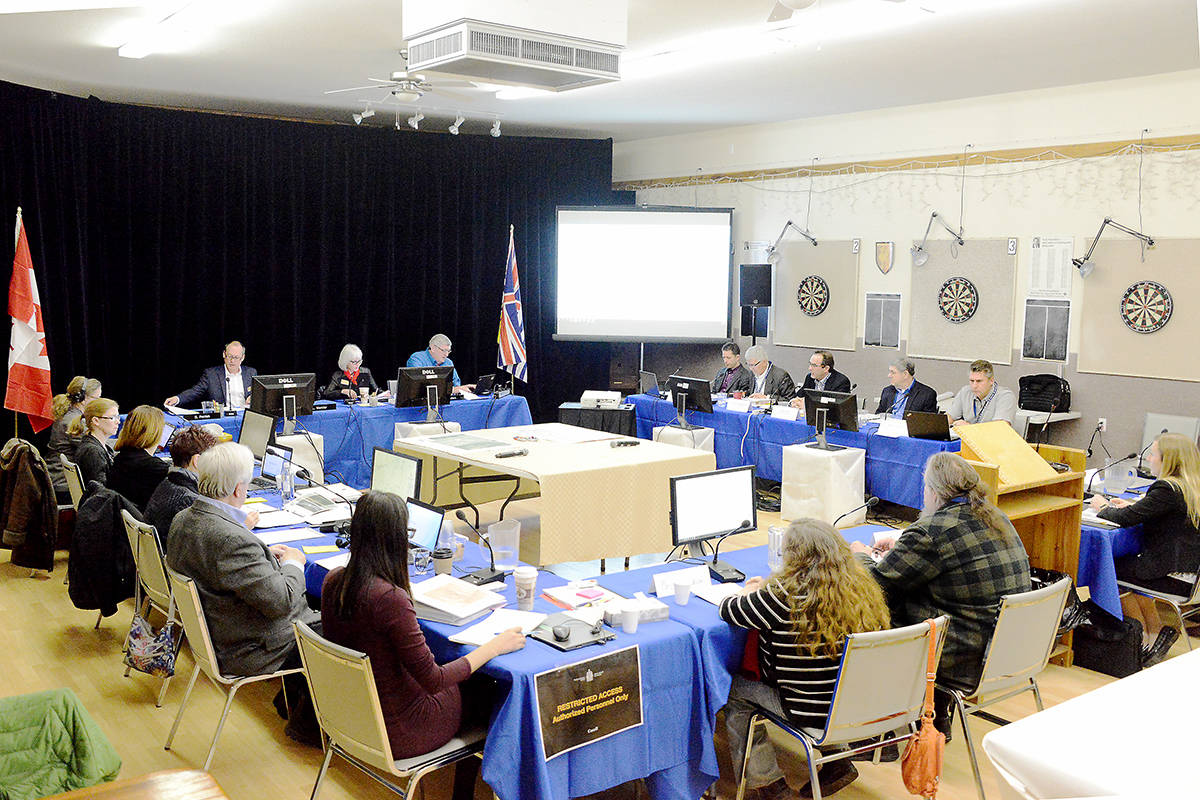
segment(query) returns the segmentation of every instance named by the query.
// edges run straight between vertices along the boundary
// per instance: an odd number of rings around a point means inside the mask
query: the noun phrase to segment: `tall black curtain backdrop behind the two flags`
[[[450,136],[140,108],[0,82],[0,229],[23,206],[54,391],[161,403],[240,339],[325,381],[430,336],[496,372],[515,225],[534,419],[607,387],[608,345],[554,342],[554,209],[613,193],[610,140]],[[12,240],[0,253],[11,264]]]

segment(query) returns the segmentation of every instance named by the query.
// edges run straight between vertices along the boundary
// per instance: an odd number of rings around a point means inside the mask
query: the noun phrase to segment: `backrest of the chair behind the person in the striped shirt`
[[[938,616],[936,656],[946,640]],[[929,664],[929,622],[853,633],[838,669],[822,742],[841,744],[902,728],[920,717]]]

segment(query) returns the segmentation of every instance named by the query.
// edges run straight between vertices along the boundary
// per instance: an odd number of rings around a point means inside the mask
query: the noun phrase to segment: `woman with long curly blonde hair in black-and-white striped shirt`
[[[833,525],[793,522],[784,536],[782,560],[779,572],[750,578],[740,595],[721,602],[721,619],[758,631],[762,672],[761,682],[734,675],[725,706],[736,770],[758,708],[799,727],[824,728],[846,636],[889,625],[883,591]],[[832,762],[821,771],[822,793],[836,792],[857,775],[848,760]],[[745,780],[764,800],[788,794],[762,728],[755,732]]]

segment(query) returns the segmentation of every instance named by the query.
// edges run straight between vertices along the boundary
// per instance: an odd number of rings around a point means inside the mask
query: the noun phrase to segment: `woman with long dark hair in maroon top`
[[[350,560],[325,577],[320,612],[325,638],[371,657],[394,758],[450,741],[463,716],[458,685],[496,656],[524,646],[521,630],[512,628],[448,664],[434,661],[409,594],[408,511],[386,492],[365,492],[359,499],[350,521]],[[479,763],[462,763],[474,769],[460,770],[455,796],[470,798]]]

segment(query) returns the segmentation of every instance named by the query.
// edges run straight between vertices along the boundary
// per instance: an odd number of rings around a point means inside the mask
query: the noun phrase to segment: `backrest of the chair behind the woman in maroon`
[[[354,758],[401,775],[391,758],[371,658],[334,644],[304,622],[293,622],[293,627],[320,729]]]

